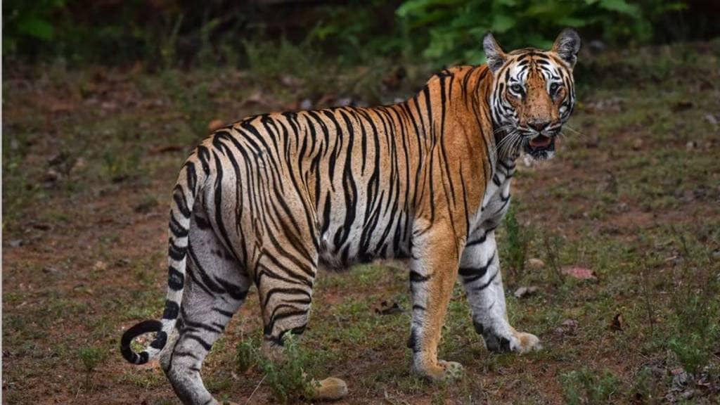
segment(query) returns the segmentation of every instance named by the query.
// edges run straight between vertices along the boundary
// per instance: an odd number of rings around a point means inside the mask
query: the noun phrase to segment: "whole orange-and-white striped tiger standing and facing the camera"
[[[172,191],[162,319],[125,331],[125,360],[159,356],[184,404],[218,404],[202,363],[252,285],[262,350],[282,359],[287,334],[307,326],[318,267],[383,258],[408,263],[418,375],[462,375],[438,359],[458,279],[487,350],[539,350],[508,321],[495,229],[516,159],[554,155],[575,105],[580,37],[565,29],[550,50],[505,53],[488,32],[482,45],[487,63],[446,68],[403,102],[254,115],[204,138]]]

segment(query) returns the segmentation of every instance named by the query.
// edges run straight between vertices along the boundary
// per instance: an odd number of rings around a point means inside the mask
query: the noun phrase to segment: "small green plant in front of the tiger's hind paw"
[[[310,355],[297,344],[297,339],[288,332],[284,335],[284,358],[279,362],[261,360],[261,370],[276,401],[281,404],[300,399],[312,399],[314,387],[305,368],[310,364]]]

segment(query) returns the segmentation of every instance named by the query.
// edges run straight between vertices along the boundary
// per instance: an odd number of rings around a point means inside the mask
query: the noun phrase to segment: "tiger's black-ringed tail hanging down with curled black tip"
[[[127,329],[120,339],[120,353],[128,362],[140,365],[156,357],[165,347],[180,314],[185,284],[190,216],[197,195],[203,190],[210,173],[210,152],[198,146],[180,169],[173,189],[168,241],[168,293],[163,318],[142,321]],[[200,167],[198,167],[200,166]],[[143,352],[134,352],[130,344],[142,334],[156,332],[156,337]]]

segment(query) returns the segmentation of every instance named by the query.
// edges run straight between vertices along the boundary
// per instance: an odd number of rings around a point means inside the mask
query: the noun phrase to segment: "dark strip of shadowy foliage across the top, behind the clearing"
[[[439,66],[482,61],[488,30],[507,48],[547,46],[568,26],[596,47],[706,39],[719,34],[719,8],[712,0],[7,0],[3,56],[246,67],[249,46],[287,41],[339,63],[420,58]]]

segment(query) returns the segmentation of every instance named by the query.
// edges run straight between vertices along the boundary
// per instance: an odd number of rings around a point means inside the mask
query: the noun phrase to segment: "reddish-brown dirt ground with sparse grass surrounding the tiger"
[[[581,61],[557,157],[521,169],[519,231],[500,231],[510,321],[543,351],[487,352],[458,289],[441,357],[462,362],[464,378],[415,378],[407,275],[366,266],[320,275],[307,370],[345,379],[342,404],[718,404],[719,55],[716,41]],[[161,314],[184,156],[211,120],[310,94],[278,81],[290,89],[229,69],[5,69],[4,404],[177,402],[159,368],[122,360],[120,335]],[[521,287],[537,290],[516,298]],[[383,301],[402,311],[376,311]],[[264,373],[238,367],[238,344],[260,334],[251,294],[205,362],[218,399],[274,403]]]

